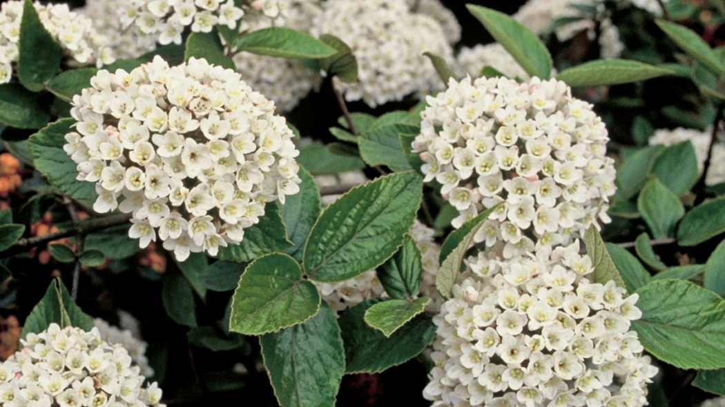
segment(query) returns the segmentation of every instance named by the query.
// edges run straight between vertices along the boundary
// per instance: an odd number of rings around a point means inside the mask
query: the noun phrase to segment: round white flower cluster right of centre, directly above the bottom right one
[[[510,259],[610,221],[607,129],[566,83],[466,77],[427,101],[413,142],[425,181],[460,212],[454,227],[502,204],[475,237],[488,250]]]

